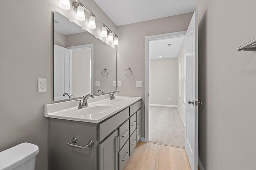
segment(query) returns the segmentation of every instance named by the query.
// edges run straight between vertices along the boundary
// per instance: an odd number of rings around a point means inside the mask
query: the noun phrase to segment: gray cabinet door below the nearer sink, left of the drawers
[[[118,170],[118,132],[112,133],[98,145],[99,170]]]

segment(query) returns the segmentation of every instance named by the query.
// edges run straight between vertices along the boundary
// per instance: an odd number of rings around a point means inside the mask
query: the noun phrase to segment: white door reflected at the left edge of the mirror
[[[54,45],[54,101],[68,99],[63,94],[70,94],[69,56],[69,49]]]

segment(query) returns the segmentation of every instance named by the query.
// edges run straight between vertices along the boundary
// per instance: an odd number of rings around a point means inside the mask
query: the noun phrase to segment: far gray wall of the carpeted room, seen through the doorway
[[[177,106],[177,71],[177,58],[149,60],[149,104]]]

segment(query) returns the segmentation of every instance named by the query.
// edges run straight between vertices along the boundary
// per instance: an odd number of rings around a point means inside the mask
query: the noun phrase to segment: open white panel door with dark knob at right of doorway
[[[185,147],[192,170],[198,159],[198,23],[197,11],[186,32],[186,141]]]

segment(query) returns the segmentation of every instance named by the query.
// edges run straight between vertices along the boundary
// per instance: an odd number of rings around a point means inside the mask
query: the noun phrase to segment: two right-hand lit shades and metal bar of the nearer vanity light
[[[84,9],[90,13],[90,18],[89,18],[89,23],[88,23],[88,27],[91,29],[95,29],[96,28],[96,23],[95,23],[95,15],[92,14],[92,12],[90,12],[90,10],[88,10],[88,8],[86,8],[79,0],[75,0],[72,3],[72,8],[74,10],[74,12],[76,12],[76,19],[80,20],[80,21],[84,21],[85,20],[85,14],[84,14]]]

